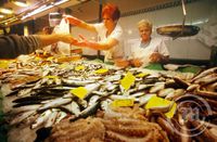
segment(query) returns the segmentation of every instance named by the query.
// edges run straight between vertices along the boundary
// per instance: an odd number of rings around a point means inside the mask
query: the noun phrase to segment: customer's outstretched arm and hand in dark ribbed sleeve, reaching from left
[[[15,59],[20,54],[29,54],[42,47],[63,41],[74,43],[71,35],[30,35],[30,36],[0,36],[0,59]]]

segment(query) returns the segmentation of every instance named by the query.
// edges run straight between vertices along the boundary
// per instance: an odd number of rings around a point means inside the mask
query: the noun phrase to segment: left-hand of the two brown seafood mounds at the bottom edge
[[[105,127],[100,118],[88,117],[74,122],[64,120],[51,131],[47,142],[99,142],[104,139]]]

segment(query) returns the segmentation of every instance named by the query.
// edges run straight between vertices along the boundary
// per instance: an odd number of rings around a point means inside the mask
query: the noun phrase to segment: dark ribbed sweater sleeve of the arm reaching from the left
[[[20,54],[29,54],[40,48],[37,36],[0,36],[0,59],[15,59]]]

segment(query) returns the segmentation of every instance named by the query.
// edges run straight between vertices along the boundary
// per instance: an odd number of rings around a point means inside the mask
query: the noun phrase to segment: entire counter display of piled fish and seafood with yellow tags
[[[30,56],[0,85],[11,129],[50,130],[42,141],[217,141],[217,67],[183,78]]]

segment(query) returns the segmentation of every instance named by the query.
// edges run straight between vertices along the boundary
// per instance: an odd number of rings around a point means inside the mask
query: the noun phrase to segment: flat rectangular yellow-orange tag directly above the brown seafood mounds
[[[122,107],[122,106],[133,106],[135,99],[120,99],[112,102],[112,106]]]

